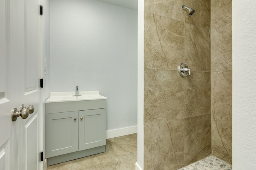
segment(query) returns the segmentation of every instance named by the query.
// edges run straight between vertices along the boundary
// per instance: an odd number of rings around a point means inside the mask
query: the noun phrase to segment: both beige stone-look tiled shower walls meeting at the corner
[[[144,1],[145,170],[176,170],[210,154],[232,163],[231,5]],[[180,63],[191,76],[179,75]]]

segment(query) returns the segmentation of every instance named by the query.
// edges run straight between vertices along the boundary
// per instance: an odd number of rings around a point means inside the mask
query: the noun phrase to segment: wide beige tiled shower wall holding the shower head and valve
[[[211,153],[210,0],[145,0],[144,16],[144,169],[176,170]]]

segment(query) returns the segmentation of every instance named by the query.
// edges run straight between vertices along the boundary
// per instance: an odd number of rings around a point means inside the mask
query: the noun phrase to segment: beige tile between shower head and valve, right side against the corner
[[[210,71],[210,29],[185,23],[185,63],[192,71]]]

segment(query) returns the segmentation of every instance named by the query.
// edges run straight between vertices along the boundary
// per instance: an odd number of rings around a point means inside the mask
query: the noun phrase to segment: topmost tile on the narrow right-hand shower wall
[[[212,28],[232,22],[232,0],[211,0]]]

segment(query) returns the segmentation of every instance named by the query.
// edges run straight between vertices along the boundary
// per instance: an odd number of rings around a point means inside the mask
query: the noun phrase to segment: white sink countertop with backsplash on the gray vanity
[[[45,103],[106,99],[106,97],[100,95],[99,91],[79,92],[81,96],[74,95],[75,92],[52,92],[50,93],[50,98],[48,98]]]

